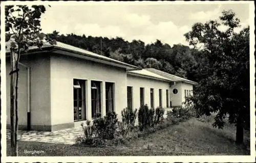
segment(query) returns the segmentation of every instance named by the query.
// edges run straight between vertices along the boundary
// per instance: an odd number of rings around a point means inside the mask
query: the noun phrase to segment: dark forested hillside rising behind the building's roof
[[[202,58],[197,50],[181,44],[171,47],[160,40],[145,44],[141,40],[125,41],[121,37],[92,37],[75,34],[59,35],[57,31],[49,34],[56,41],[86,49],[140,68],[156,68],[190,80],[198,81],[196,74]]]

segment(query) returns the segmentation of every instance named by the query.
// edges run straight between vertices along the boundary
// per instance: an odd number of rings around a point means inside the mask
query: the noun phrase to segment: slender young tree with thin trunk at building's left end
[[[46,11],[40,6],[5,6],[6,42],[10,43],[11,58],[11,148],[12,156],[18,155],[18,78],[20,54],[26,52],[30,46],[41,47],[44,39],[51,44],[54,40],[40,33],[40,16]]]

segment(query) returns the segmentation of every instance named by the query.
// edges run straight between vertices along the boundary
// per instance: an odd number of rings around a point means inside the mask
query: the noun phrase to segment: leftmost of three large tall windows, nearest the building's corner
[[[74,121],[86,120],[85,81],[73,79]]]

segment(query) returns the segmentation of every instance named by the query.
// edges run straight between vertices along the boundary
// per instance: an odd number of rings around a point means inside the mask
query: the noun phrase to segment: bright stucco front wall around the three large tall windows
[[[115,83],[114,106],[118,118],[127,106],[126,71],[122,68],[92,61],[51,56],[51,108],[52,125],[74,122],[73,79],[86,80],[86,118],[91,120],[91,80],[102,82],[101,113],[105,115],[105,82]],[[79,123],[79,124],[78,124]],[[77,125],[80,125],[78,122]],[[75,124],[75,126],[77,126]]]

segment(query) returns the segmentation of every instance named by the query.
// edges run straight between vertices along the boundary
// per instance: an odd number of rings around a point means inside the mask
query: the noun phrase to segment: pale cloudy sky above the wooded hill
[[[240,31],[249,24],[248,4],[129,4],[102,5],[46,5],[41,16],[44,33],[122,37],[154,43],[156,39],[169,45],[188,45],[185,33],[196,22],[205,23],[221,16],[223,10],[232,9],[241,21]],[[223,26],[220,29],[224,29]]]

